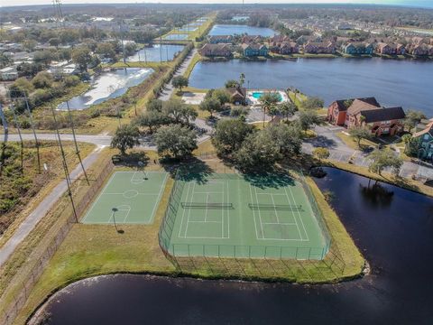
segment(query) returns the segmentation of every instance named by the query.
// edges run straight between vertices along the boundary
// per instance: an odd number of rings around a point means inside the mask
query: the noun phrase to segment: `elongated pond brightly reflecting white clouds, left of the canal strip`
[[[122,96],[128,88],[141,84],[152,72],[152,69],[142,68],[115,69],[102,72],[90,80],[92,88],[69,100],[69,108],[85,109],[107,99]],[[61,103],[58,109],[67,109],[66,102]]]

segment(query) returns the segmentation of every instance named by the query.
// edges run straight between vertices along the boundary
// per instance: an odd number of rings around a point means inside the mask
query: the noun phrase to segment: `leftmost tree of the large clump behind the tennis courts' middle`
[[[253,130],[253,125],[239,119],[220,120],[212,136],[212,144],[215,145],[217,153],[234,153],[241,147],[245,138],[253,133]]]

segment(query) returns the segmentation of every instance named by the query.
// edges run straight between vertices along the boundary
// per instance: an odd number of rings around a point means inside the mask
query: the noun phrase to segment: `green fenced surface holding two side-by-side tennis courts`
[[[327,254],[327,231],[298,180],[227,175],[176,181],[160,233],[171,255],[322,259]]]

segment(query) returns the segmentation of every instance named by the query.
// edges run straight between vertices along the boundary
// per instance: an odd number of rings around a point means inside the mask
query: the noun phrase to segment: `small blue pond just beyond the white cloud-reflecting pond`
[[[159,62],[173,60],[176,53],[184,49],[183,45],[172,44],[154,44],[152,47],[143,48],[137,51],[133,56],[128,57],[128,62]]]

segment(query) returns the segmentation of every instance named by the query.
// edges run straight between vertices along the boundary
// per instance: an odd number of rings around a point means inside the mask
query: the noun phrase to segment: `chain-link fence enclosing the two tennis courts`
[[[169,204],[165,212],[165,216],[161,223],[159,240],[160,246],[164,254],[175,264],[181,257],[203,257],[203,258],[249,258],[249,259],[296,259],[320,261],[326,257],[331,258],[331,265],[336,264],[336,267],[344,271],[344,261],[337,250],[336,245],[332,245],[332,237],[327,228],[326,221],[321,209],[309,184],[306,182],[302,172],[294,172],[292,177],[302,185],[305,191],[309,205],[313,210],[314,216],[318,221],[318,227],[325,241],[324,246],[309,247],[309,246],[237,246],[237,245],[207,245],[207,244],[172,244],[170,238],[173,228],[175,227],[176,215],[180,208],[182,191],[185,184],[191,175],[188,172],[178,171],[175,176],[174,186],[170,193]],[[238,173],[209,173],[205,175],[207,180],[239,180],[243,179]],[[194,176],[192,176],[194,178]],[[334,249],[332,249],[334,247]]]

